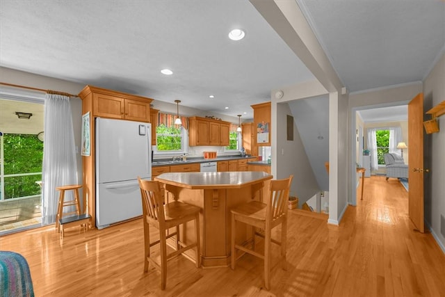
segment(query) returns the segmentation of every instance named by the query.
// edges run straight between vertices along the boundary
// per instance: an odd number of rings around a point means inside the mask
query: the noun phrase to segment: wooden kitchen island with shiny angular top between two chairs
[[[200,214],[202,266],[228,266],[230,263],[230,209],[238,204],[261,200],[264,182],[272,179],[266,172],[170,172],[155,180],[165,184],[165,195],[193,204]],[[193,224],[181,230],[181,239],[195,240]],[[236,241],[248,234],[237,232]],[[190,251],[189,251],[190,252]],[[193,257],[194,252],[187,254]]]

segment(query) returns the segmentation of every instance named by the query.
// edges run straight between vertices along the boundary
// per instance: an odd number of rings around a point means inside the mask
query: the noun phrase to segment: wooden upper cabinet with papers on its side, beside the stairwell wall
[[[270,146],[271,138],[271,112],[270,102],[251,105],[253,109],[253,121],[255,142],[258,146]]]

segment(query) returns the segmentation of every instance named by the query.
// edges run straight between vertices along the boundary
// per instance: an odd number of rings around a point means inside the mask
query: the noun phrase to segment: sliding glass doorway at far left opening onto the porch
[[[0,98],[0,235],[40,227],[44,100]]]

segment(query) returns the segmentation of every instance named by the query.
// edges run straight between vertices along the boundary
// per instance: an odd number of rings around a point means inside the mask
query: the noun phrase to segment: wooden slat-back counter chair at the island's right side
[[[264,259],[264,282],[266,289],[270,287],[270,243],[281,246],[281,260],[283,269],[286,270],[286,232],[287,232],[287,200],[293,175],[287,179],[272,180],[268,186],[266,203],[252,201],[232,209],[232,269],[235,268],[236,250],[248,252],[251,255]],[[248,245],[241,246],[235,243],[236,222],[252,226],[252,248]],[[281,224],[281,241],[271,238],[272,230]],[[257,230],[264,230],[264,235]],[[255,251],[255,235],[264,237],[264,253]]]

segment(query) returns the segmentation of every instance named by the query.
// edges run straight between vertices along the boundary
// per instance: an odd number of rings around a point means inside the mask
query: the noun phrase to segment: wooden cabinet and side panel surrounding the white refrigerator
[[[82,100],[82,114],[90,113],[90,156],[82,156],[83,205],[88,205],[92,227],[96,224],[96,160],[95,160],[95,118],[114,118],[150,122],[151,98],[86,86],[79,93]],[[88,199],[88,202],[87,202]]]

